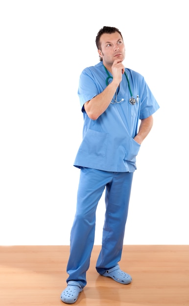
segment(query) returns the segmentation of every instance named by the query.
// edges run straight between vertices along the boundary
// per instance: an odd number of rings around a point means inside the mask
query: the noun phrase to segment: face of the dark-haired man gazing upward
[[[125,45],[118,32],[107,34],[104,33],[100,37],[101,50],[98,50],[99,56],[103,60],[103,64],[112,66],[116,59],[122,62],[125,58]]]

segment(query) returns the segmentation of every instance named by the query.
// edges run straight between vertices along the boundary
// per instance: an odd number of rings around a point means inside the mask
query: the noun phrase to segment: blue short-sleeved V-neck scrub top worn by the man
[[[136,156],[141,146],[133,138],[138,132],[139,119],[152,115],[159,109],[159,105],[141,74],[128,68],[125,68],[125,73],[133,97],[137,99],[139,95],[138,103],[129,103],[131,94],[123,74],[117,101],[124,100],[110,103],[98,119],[92,120],[83,105],[106,88],[107,73],[102,62],[82,71],[78,96],[84,118],[83,140],[75,157],[75,167],[112,172],[136,170]]]

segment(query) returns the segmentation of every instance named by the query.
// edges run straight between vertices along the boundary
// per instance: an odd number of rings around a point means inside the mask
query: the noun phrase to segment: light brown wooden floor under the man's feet
[[[133,282],[100,276],[95,245],[79,306],[189,306],[189,245],[124,245]],[[0,246],[0,306],[63,306],[69,246]]]

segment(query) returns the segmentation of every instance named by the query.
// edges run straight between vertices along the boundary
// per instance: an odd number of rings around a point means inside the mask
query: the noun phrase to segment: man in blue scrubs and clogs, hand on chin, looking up
[[[61,293],[61,300],[67,304],[75,303],[87,284],[95,212],[104,190],[106,212],[96,271],[120,284],[132,282],[118,262],[136,156],[152,128],[152,115],[159,109],[143,76],[122,63],[125,45],[121,32],[104,26],[97,33],[96,46],[100,62],[82,71],[78,87],[84,125],[74,161],[80,179],[71,229],[69,277]]]

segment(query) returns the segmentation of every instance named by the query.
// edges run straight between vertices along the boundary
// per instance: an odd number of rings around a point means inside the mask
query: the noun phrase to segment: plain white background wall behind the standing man
[[[67,245],[82,137],[77,87],[98,30],[160,109],[137,158],[124,244],[189,244],[189,18],[185,0],[0,1],[0,244]],[[96,213],[101,244],[104,197]],[[82,237],[81,237],[82,239]]]

